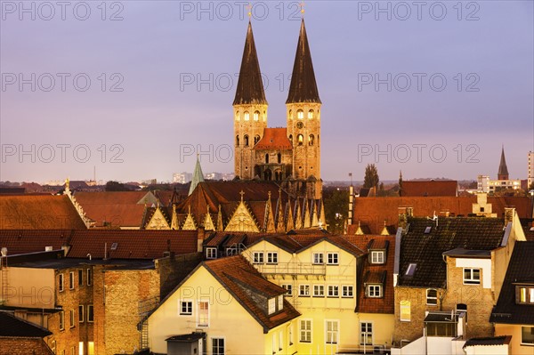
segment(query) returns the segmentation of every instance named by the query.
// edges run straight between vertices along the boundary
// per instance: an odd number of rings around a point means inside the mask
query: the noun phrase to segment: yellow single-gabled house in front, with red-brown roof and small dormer
[[[156,353],[293,354],[299,312],[241,256],[202,262],[148,318]]]

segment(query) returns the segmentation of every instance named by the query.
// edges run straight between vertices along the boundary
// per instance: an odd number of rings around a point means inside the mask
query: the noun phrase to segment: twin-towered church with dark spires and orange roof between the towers
[[[302,20],[286,101],[287,127],[267,126],[268,103],[252,25],[248,22],[233,101],[236,177],[278,182],[295,198],[320,199],[320,106]]]

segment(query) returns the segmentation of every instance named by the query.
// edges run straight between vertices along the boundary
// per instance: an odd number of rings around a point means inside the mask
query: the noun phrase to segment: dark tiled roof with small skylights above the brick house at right
[[[504,237],[504,220],[499,218],[439,218],[435,222],[426,218],[409,218],[409,230],[401,237],[401,260],[398,285],[445,287],[446,263],[443,253],[464,248],[492,250],[501,245]],[[433,227],[425,234],[426,227]],[[416,263],[413,276],[407,276],[410,263]]]

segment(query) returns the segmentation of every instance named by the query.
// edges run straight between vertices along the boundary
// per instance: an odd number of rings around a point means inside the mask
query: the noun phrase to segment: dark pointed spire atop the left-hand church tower
[[[247,39],[245,40],[241,69],[239,69],[238,89],[233,104],[267,104],[250,21],[248,21]]]

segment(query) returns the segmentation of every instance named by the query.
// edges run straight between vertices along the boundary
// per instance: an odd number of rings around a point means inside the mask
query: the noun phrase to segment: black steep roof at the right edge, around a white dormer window
[[[534,241],[517,241],[490,322],[534,325],[534,306],[515,303],[514,283],[534,283]]]

